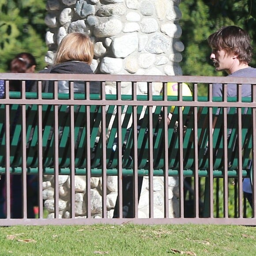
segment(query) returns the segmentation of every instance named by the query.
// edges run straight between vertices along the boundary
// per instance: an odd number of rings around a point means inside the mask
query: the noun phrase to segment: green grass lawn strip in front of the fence
[[[256,255],[256,227],[93,225],[0,227],[0,255]]]

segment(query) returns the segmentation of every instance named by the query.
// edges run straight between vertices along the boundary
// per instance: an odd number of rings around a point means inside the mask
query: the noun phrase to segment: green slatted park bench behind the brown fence
[[[19,98],[19,93],[10,93],[10,99]],[[121,96],[123,105],[120,106],[115,103],[116,95],[106,95],[105,102],[102,102],[100,95],[93,94],[90,95],[93,104],[83,105],[81,101],[85,96],[75,94],[74,98],[79,104],[71,106],[68,103],[59,104],[61,100],[68,102],[67,94],[58,95],[60,100],[58,105],[51,103],[53,94],[50,93],[42,94],[42,99],[47,103],[41,105],[33,100],[37,98],[37,94],[26,93],[26,98],[31,99],[32,103],[26,104],[25,109],[22,109],[19,101],[9,105],[10,155],[6,150],[6,105],[0,104],[1,174],[6,172],[8,158],[10,173],[22,173],[23,149],[26,148],[25,165],[26,172],[29,174],[37,174],[38,166],[41,164],[43,174],[54,174],[57,166],[59,174],[70,174],[71,169],[74,168],[75,174],[87,175],[89,166],[91,177],[101,176],[103,169],[106,170],[106,175],[117,175],[121,159],[124,176],[133,175],[136,165],[139,176],[148,176],[151,172],[153,176],[164,176],[165,170],[168,169],[169,176],[206,177],[204,198],[202,198],[203,217],[210,216],[209,177],[211,175],[214,178],[225,177],[225,175],[226,177],[239,177],[239,175],[250,177],[253,144],[252,108],[248,108],[248,111],[241,115],[241,126],[234,121],[238,119],[236,107],[230,107],[226,124],[222,109],[216,119],[214,132],[211,132],[209,116],[215,117],[218,108],[217,106],[209,108],[206,97],[198,97],[198,102],[205,102],[200,106],[195,104],[189,106],[188,102],[192,102],[192,97],[184,97],[186,104],[184,103],[183,111],[181,106],[175,107],[169,125],[164,121],[163,113],[169,113],[171,105],[175,104],[172,102],[164,109],[161,105],[162,96],[153,96],[153,101],[156,103],[152,104],[153,107],[143,105],[143,102],[147,101],[147,96],[137,96],[140,102],[137,106],[134,105],[130,95]],[[176,101],[177,97],[169,97],[168,100]],[[236,98],[228,99],[230,102],[236,102],[236,100]],[[129,104],[129,101],[133,104]],[[222,101],[222,99],[215,98],[213,101]],[[250,99],[245,98],[243,101],[250,102]],[[106,112],[103,112],[104,108]],[[196,117],[195,109],[197,109]],[[24,111],[26,112],[25,136],[22,115]],[[116,111],[117,114],[113,116]],[[71,112],[73,112],[72,115]],[[38,122],[38,113],[40,113],[41,122]],[[118,120],[121,113],[123,113],[122,122]],[[241,113],[244,113],[244,107],[241,108]],[[162,119],[159,118],[160,116]],[[136,121],[131,123],[133,117]],[[58,119],[57,131],[54,128],[56,118]],[[71,126],[74,129],[71,129]],[[111,128],[107,129],[110,126]],[[225,139],[229,131],[229,137]],[[58,136],[57,139],[55,134]],[[121,138],[118,135],[121,135]],[[38,143],[40,136],[42,140]],[[120,148],[119,151],[118,148]],[[134,154],[135,151],[137,154]],[[168,161],[168,167],[166,167],[166,161]]]

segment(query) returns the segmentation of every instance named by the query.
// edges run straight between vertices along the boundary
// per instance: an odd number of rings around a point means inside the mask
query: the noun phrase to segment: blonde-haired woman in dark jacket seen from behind
[[[94,56],[94,44],[86,34],[70,33],[66,35],[55,54],[52,67],[42,70],[40,73],[55,74],[93,74],[90,64]],[[36,85],[31,91],[36,91]],[[53,92],[53,82],[42,85],[43,92]],[[69,93],[69,82],[59,81],[58,92]],[[74,93],[84,93],[85,83],[76,81]],[[100,93],[100,83],[90,82],[90,93]]]

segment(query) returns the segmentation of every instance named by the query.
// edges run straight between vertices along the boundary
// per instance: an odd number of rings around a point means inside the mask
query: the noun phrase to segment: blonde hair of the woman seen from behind
[[[94,45],[90,38],[81,33],[67,34],[61,41],[55,55],[54,63],[60,64],[77,60],[91,64],[94,55]]]

